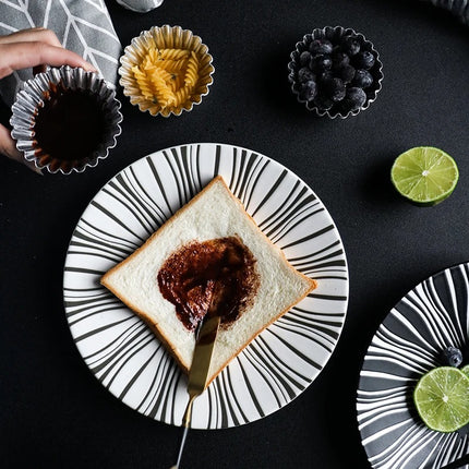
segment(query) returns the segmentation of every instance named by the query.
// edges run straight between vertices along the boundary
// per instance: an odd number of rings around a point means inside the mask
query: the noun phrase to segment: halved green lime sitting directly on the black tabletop
[[[459,171],[456,161],[432,146],[418,146],[399,155],[390,169],[397,191],[412,203],[432,206],[455,190]]]

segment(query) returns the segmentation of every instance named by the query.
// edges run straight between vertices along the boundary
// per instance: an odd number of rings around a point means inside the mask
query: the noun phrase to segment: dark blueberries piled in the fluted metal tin
[[[336,43],[336,44],[334,44]],[[357,111],[375,84],[376,57],[353,34],[337,40],[313,38],[299,50],[294,88],[301,101],[320,111]]]

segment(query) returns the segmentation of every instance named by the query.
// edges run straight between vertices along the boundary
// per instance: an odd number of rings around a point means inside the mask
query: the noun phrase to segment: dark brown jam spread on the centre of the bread
[[[228,327],[252,304],[260,285],[256,261],[238,237],[191,242],[172,253],[158,272],[165,299],[189,330],[206,314]]]

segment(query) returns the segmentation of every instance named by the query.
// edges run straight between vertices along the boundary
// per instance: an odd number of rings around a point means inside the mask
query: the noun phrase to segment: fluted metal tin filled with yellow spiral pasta
[[[120,58],[119,83],[132,105],[152,116],[180,116],[208,94],[215,71],[208,47],[189,29],[154,26]]]

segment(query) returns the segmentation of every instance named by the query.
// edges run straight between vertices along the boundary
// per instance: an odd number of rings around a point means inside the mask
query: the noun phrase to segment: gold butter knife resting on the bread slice
[[[208,314],[207,314],[208,316]],[[205,390],[208,381],[208,370],[211,368],[212,354],[214,351],[214,344],[220,325],[220,316],[214,315],[204,318],[202,326],[199,330],[197,339],[195,342],[194,357],[192,359],[191,369],[189,370],[188,394],[189,401],[185,407],[184,416],[182,418],[182,425],[184,433],[182,435],[181,446],[179,448],[178,462],[171,469],[178,469],[181,464],[182,450],[185,444],[189,425],[192,418],[192,405],[194,400]]]

